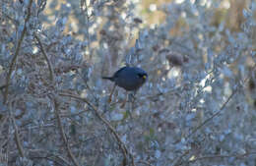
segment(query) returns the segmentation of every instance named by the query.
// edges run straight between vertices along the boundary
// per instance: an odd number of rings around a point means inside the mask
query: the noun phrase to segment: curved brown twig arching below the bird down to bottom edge
[[[72,97],[72,98],[76,98],[79,100],[84,101],[85,103],[87,103],[96,113],[96,117],[107,126],[107,128],[109,129],[109,131],[113,134],[113,136],[116,138],[119,147],[122,150],[123,156],[124,156],[124,162],[127,164],[127,153],[130,155],[131,160],[132,160],[132,165],[135,166],[134,163],[134,157],[131,153],[128,152],[127,147],[125,146],[124,142],[121,140],[121,138],[119,137],[119,135],[117,134],[117,132],[114,130],[114,128],[109,124],[109,122],[107,120],[105,120],[100,114],[99,114],[99,110],[96,108],[96,106],[94,104],[92,104],[90,101],[88,101],[86,98],[82,98],[80,96],[77,95],[73,95],[73,94],[65,94],[65,93],[60,93],[60,95],[62,96],[67,96],[67,97]],[[124,165],[126,165],[124,164]]]

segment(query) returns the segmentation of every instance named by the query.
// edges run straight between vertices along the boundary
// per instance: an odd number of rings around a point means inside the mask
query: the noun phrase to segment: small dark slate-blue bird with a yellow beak
[[[108,100],[111,102],[116,85],[124,88],[126,91],[137,91],[148,80],[148,74],[141,68],[125,66],[116,71],[112,77],[102,77],[102,79],[114,83]],[[124,105],[125,103],[122,104],[122,107]]]

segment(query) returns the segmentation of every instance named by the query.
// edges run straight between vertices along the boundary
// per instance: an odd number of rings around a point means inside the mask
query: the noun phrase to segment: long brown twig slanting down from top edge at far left
[[[19,55],[20,48],[21,48],[23,39],[25,37],[25,33],[26,33],[26,30],[27,30],[27,24],[28,24],[28,22],[31,18],[31,10],[32,10],[32,0],[30,0],[29,6],[28,6],[28,15],[27,15],[27,18],[25,19],[24,28],[23,28],[21,37],[18,40],[18,44],[17,44],[16,50],[15,50],[15,53],[14,53],[14,57],[12,59],[12,62],[11,62],[11,65],[10,65],[10,68],[9,68],[9,71],[8,71],[8,74],[7,74],[6,83],[5,83],[6,88],[5,88],[5,92],[4,92],[4,99],[3,99],[4,102],[3,103],[6,103],[7,99],[8,99],[8,90],[9,90],[11,75],[12,75],[12,72],[14,71],[14,66],[15,66],[15,63],[16,63],[16,59]]]

